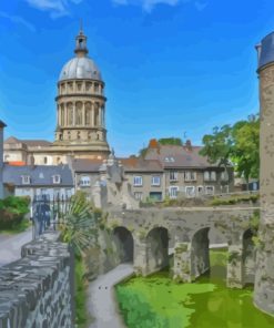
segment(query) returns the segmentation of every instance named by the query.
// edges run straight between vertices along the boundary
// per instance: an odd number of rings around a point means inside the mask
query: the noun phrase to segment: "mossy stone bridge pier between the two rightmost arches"
[[[243,247],[242,245],[229,246],[226,286],[243,288]]]

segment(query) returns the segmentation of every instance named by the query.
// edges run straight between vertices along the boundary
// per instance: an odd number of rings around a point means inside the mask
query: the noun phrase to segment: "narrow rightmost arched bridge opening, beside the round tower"
[[[243,234],[243,285],[254,284],[255,280],[255,246],[253,232],[247,229]]]

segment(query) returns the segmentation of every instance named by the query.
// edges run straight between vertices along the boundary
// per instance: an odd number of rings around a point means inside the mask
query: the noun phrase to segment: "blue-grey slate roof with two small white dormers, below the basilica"
[[[30,184],[22,184],[22,175],[30,176]],[[52,176],[60,175],[61,183],[53,184]],[[69,165],[26,165],[12,166],[4,164],[3,183],[14,186],[55,186],[72,187],[73,177]]]

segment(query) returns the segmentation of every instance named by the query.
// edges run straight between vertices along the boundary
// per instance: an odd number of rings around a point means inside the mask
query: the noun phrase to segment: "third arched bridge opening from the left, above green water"
[[[191,240],[191,277],[196,278],[210,269],[210,227],[194,233]]]

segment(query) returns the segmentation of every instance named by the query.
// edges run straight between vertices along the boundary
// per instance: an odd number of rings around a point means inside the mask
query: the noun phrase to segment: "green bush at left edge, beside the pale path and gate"
[[[0,229],[12,229],[21,224],[29,213],[28,197],[9,196],[0,199]]]

